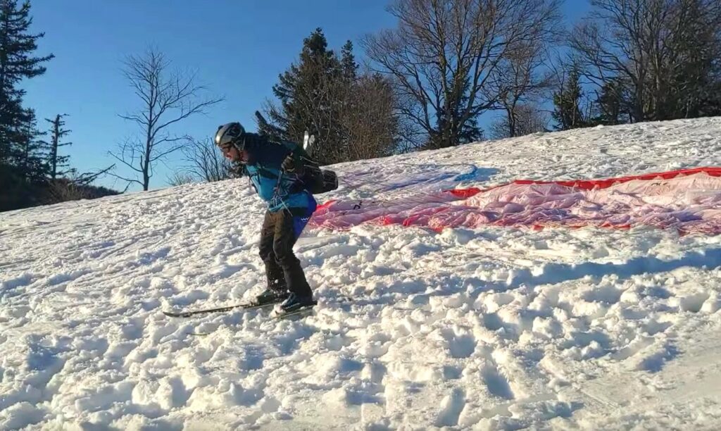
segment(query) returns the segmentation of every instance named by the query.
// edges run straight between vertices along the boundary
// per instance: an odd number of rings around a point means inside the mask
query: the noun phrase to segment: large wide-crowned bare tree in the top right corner
[[[628,86],[632,121],[684,116],[721,55],[718,0],[593,0],[570,45],[598,87]]]

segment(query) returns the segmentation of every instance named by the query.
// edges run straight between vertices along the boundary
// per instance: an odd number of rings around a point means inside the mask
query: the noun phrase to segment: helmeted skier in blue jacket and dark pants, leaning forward
[[[215,142],[226,159],[239,164],[239,174],[249,177],[267,205],[258,244],[267,288],[256,297],[257,303],[280,302],[286,313],[314,306],[311,287],[293,254],[293,245],[317,207],[301,181],[307,154],[293,143],[248,133],[240,123],[219,126]]]

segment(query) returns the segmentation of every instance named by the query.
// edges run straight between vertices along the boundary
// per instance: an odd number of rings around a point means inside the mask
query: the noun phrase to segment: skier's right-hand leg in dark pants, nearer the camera
[[[308,223],[309,216],[293,215],[289,210],[280,210],[274,216],[275,241],[273,241],[273,252],[283,269],[288,290],[299,297],[312,296],[313,291],[306,281],[301,262],[293,254],[293,245],[296,244],[298,236],[301,235],[303,228]]]

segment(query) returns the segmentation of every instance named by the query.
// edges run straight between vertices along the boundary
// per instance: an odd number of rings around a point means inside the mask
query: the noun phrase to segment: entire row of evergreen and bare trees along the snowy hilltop
[[[721,115],[721,2],[590,0],[572,28],[561,4],[392,0],[397,26],[363,37],[362,61],[350,40],[334,50],[317,28],[255,112],[257,130],[296,143],[314,135],[319,163],[335,164],[539,131]],[[87,185],[100,173],[148,190],[154,166],[175,152],[185,166],[171,184],[232,176],[210,138],[172,133],[222,98],[204,96],[195,74],[171,70],[157,49],[131,55],[123,69],[142,103],[121,116],[141,138],[110,156],[130,174],[113,166],[78,174],[63,156],[66,116],[46,119],[43,132],[22,105],[19,81],[43,74],[53,58],[32,54],[43,34],[28,33],[29,9],[28,1],[0,0],[0,181],[11,185],[4,190],[25,190],[0,191],[0,209],[51,200],[28,187]]]

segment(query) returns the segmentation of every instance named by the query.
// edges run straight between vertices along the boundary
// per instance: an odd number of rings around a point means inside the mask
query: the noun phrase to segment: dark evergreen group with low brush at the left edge
[[[70,146],[65,114],[37,124],[35,110],[25,107],[22,79],[45,73],[53,54],[35,56],[37,40],[31,34],[30,1],[0,0],[0,211],[117,192],[91,183],[108,169],[79,173],[62,148]]]

